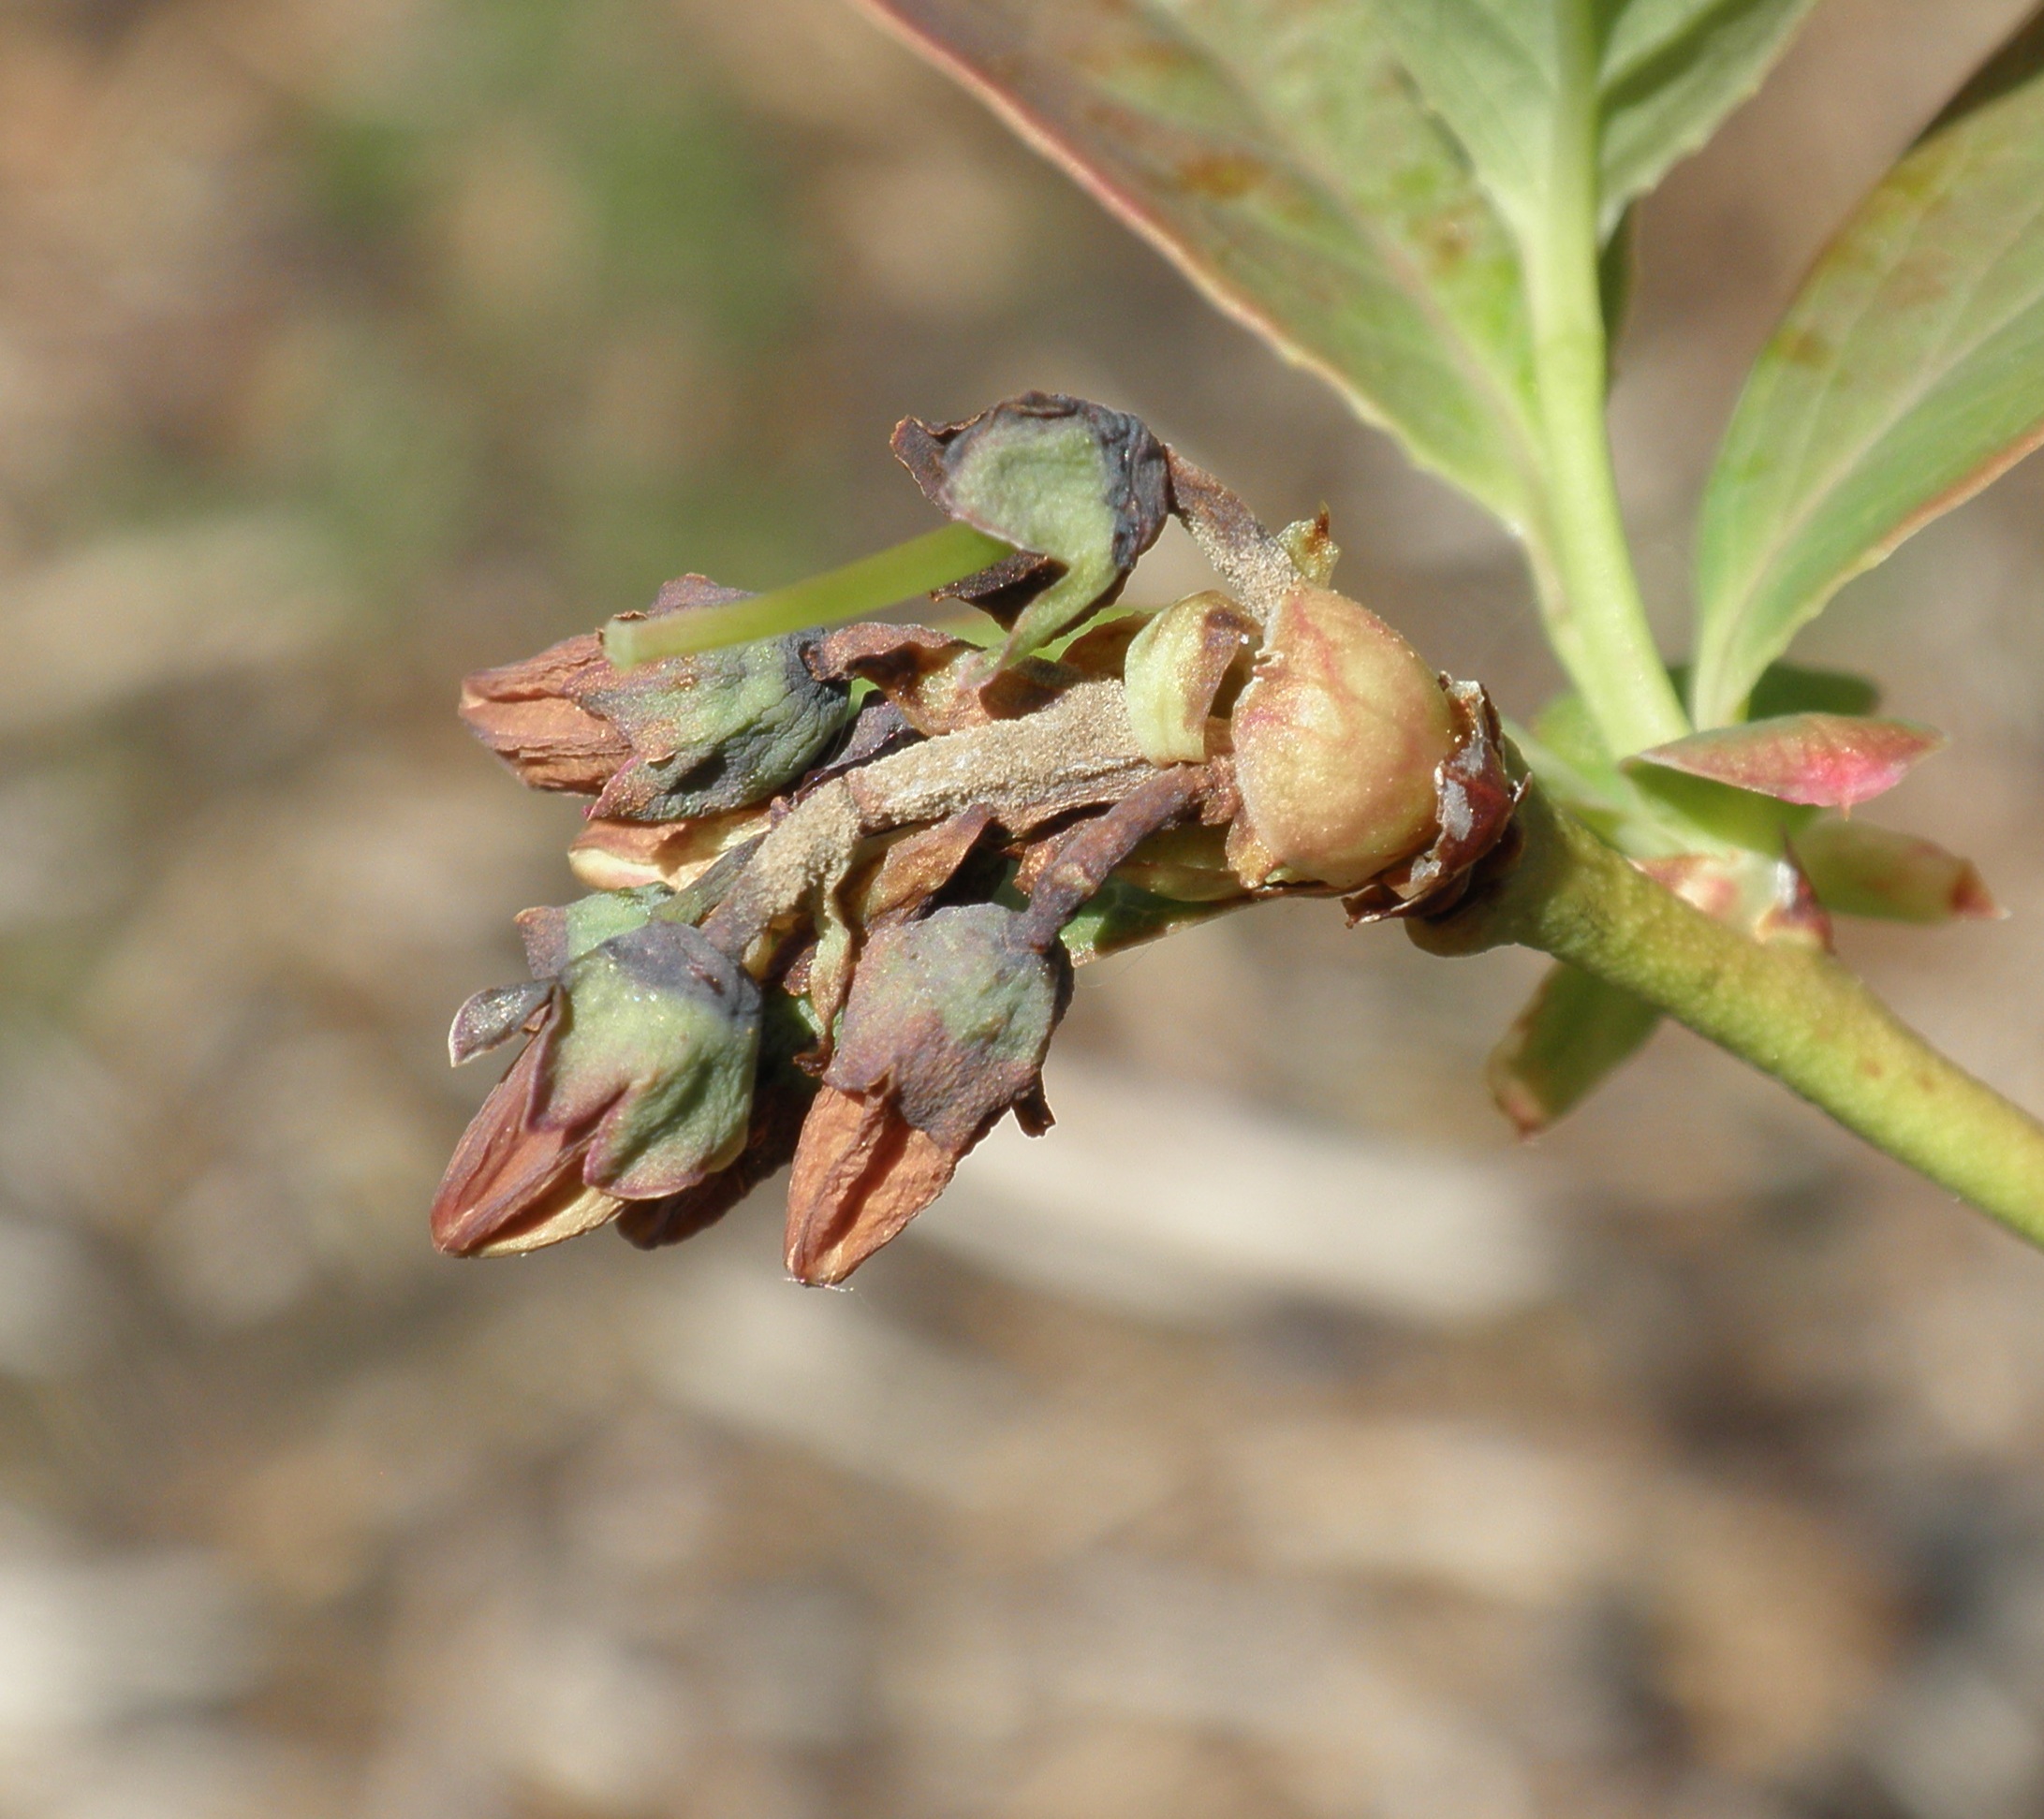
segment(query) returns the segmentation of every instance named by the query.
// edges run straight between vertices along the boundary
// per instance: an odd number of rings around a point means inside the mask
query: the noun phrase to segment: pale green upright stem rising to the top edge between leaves
[[[1592,6],[1572,0],[1560,12],[1566,96],[1555,108],[1547,208],[1523,235],[1555,570],[1543,609],[1570,679],[1613,754],[1625,758],[1682,738],[1688,717],[1639,599],[1605,423]]]

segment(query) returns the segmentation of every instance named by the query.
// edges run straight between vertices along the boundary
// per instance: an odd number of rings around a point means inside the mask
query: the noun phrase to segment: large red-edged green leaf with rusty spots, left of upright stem
[[[1224,309],[1531,538],[1519,262],[1369,0],[867,0]]]

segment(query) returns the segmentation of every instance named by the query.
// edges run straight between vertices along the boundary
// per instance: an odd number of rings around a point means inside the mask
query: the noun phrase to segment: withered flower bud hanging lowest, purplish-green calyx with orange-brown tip
[[[1010,1108],[1047,1128],[1042,1057],[1069,993],[1063,950],[1038,952],[995,903],[877,930],[795,1153],[789,1271],[842,1281]]]

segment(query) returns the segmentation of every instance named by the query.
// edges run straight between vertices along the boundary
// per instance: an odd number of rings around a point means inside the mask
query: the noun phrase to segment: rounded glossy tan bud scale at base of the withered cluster
[[[1433,838],[1455,719],[1435,672],[1355,601],[1288,593],[1230,726],[1247,883],[1353,889]]]

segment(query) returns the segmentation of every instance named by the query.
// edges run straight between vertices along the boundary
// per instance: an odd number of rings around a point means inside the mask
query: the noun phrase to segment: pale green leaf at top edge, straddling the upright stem
[[[1711,137],[1811,0],[1382,0],[1398,55],[1521,243],[1596,186],[1598,233]]]

